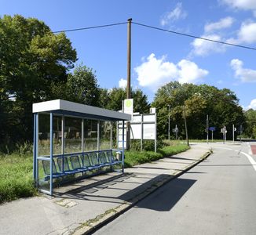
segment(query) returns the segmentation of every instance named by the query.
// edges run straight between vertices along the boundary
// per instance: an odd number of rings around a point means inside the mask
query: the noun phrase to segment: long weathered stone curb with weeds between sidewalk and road
[[[97,215],[97,217],[95,217],[94,219],[87,220],[86,222],[82,223],[81,226],[76,228],[71,234],[86,235],[95,232],[102,226],[108,224],[108,222],[112,222],[112,220],[119,217],[119,215],[122,215],[125,211],[128,211],[130,208],[133,208],[133,206],[137,204],[137,202],[141,201],[142,199],[144,199],[144,197],[147,197],[149,194],[155,192],[155,190],[159,189],[160,186],[163,186],[164,184],[170,182],[170,180],[176,179],[177,177],[183,175],[185,172],[188,172],[191,168],[195,167],[197,164],[207,159],[207,157],[209,157],[210,154],[212,154],[211,151],[207,152],[206,154],[203,154],[203,156],[200,157],[199,160],[188,165],[183,170],[174,173],[174,175],[167,175],[164,179],[161,179],[161,181],[153,183],[152,186],[149,186],[148,189],[145,190],[143,193],[140,193],[137,196],[133,197],[130,200],[131,202],[124,202],[123,204],[119,205],[116,208],[109,209],[108,211],[105,211],[103,214]]]

